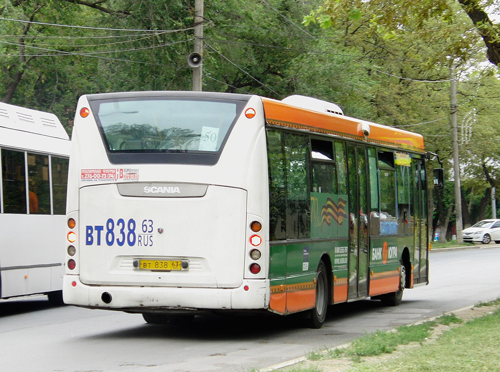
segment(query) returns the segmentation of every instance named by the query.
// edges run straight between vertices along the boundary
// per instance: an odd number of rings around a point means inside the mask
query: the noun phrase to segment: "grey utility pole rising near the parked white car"
[[[455,179],[455,221],[456,242],[463,243],[462,198],[460,186],[460,163],[458,158],[458,132],[456,128],[456,80],[455,64],[449,69],[450,107],[451,107],[451,139],[453,142],[453,177]]]

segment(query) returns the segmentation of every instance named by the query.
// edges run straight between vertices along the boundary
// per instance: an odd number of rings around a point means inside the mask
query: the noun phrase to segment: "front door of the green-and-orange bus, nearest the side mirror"
[[[425,163],[421,159],[413,162],[413,191],[415,197],[415,248],[413,252],[413,284],[428,280],[427,252],[427,179]]]

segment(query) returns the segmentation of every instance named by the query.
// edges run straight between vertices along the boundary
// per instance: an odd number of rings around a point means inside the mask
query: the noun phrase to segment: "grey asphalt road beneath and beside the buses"
[[[321,329],[300,316],[199,316],[152,326],[137,314],[51,306],[45,296],[0,300],[2,372],[247,372],[500,296],[500,246],[433,250],[430,284],[397,307],[331,306]]]

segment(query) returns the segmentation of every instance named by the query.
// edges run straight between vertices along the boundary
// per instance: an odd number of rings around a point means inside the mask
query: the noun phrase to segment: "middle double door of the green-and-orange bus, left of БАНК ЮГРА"
[[[368,219],[366,154],[361,146],[347,145],[349,180],[349,284],[347,299],[367,296]]]

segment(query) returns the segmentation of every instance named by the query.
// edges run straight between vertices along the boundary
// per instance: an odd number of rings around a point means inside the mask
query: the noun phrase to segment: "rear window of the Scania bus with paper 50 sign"
[[[198,158],[203,154],[219,154],[243,106],[244,102],[237,100],[174,97],[90,102],[108,155],[142,153],[147,154],[149,160],[153,159],[151,153],[198,154]],[[179,161],[181,157],[178,155],[159,156],[163,160],[156,158],[156,161],[146,161],[144,156],[135,156],[136,159],[125,156],[129,161],[109,157],[113,163],[189,162]],[[194,163],[205,162],[198,159]]]

